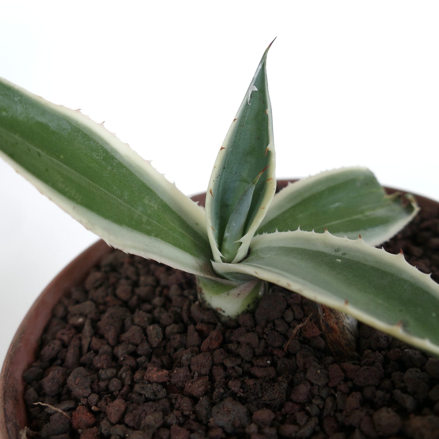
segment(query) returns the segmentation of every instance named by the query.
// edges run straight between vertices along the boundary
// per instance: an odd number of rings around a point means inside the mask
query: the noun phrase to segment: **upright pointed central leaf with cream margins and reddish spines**
[[[276,190],[273,118],[266,75],[266,57],[272,43],[259,62],[210,177],[205,209],[216,262],[237,263],[245,258]],[[230,230],[234,233],[229,234]]]

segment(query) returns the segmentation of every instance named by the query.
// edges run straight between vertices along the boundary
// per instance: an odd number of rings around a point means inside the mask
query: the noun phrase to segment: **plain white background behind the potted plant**
[[[194,194],[277,36],[277,176],[364,165],[439,200],[438,5],[3,2],[0,76],[105,121]],[[40,291],[96,239],[0,163],[0,364]]]

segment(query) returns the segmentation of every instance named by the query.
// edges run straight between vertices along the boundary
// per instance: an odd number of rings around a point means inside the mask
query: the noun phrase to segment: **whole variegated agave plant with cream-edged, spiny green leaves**
[[[439,285],[374,247],[416,215],[413,197],[386,195],[360,167],[275,194],[269,48],[219,149],[205,209],[103,125],[4,79],[0,154],[109,245],[195,274],[200,299],[224,316],[251,309],[272,282],[439,354]]]

